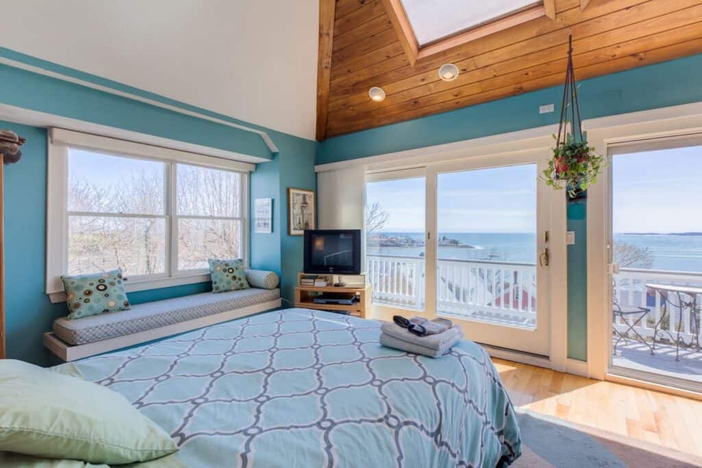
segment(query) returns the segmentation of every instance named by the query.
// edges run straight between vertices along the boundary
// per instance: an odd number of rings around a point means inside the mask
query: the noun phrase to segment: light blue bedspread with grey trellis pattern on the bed
[[[171,433],[187,466],[495,467],[520,453],[489,356],[378,344],[380,323],[286,309],[84,359]]]

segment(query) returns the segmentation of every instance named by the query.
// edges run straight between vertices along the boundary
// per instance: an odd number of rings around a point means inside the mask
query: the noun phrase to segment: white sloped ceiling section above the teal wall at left
[[[317,0],[6,0],[0,46],[314,140]]]

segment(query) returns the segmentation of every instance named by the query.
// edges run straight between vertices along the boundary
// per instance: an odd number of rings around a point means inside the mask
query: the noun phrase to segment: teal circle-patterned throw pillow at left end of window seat
[[[121,269],[104,273],[61,276],[61,280],[66,290],[69,319],[82,319],[131,307],[124,292]]]

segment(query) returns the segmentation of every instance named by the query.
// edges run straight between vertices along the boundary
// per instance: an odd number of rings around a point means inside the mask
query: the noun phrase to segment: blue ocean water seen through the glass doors
[[[383,232],[383,236],[409,236],[421,241],[420,232]],[[536,263],[536,234],[530,233],[466,233],[446,232],[446,236],[473,248],[439,247],[439,258],[457,260],[495,260]],[[702,272],[702,235],[674,234],[615,234],[614,243],[627,243],[647,248],[652,260],[651,269],[681,272]],[[369,243],[369,255],[397,255],[423,257],[423,246],[378,247]]]

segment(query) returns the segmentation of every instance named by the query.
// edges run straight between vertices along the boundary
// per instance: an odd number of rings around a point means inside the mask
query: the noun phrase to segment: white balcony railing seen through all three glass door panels
[[[423,258],[366,255],[366,271],[373,284],[373,302],[406,309],[424,309],[426,286]],[[648,283],[702,287],[702,273],[623,268],[614,275],[614,294],[620,307],[646,307],[650,310],[647,319],[642,320],[634,330],[643,337],[651,338],[657,323],[657,329],[663,332],[659,333],[659,340],[661,337],[675,336],[678,310],[668,305],[668,310],[674,313],[661,321],[664,301],[660,293],[646,287]],[[439,314],[534,328],[536,297],[536,265],[488,260],[439,259],[437,262]],[[702,295],[697,299],[697,303],[702,305]],[[621,319],[613,320],[614,328],[620,333],[627,331],[628,325]],[[694,329],[696,323],[702,323],[702,320],[692,320],[690,310],[684,309],[680,330],[685,342],[691,342],[696,334],[701,333],[702,330]]]

